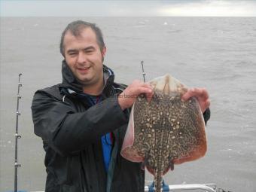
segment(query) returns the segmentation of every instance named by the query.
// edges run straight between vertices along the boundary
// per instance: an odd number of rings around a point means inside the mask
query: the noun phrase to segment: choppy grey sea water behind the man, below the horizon
[[[188,87],[206,87],[212,117],[208,151],[175,166],[167,184],[215,183],[231,191],[256,191],[256,17],[15,17],[1,18],[0,191],[14,189],[14,132],[21,76],[19,190],[44,190],[44,151],[34,135],[33,93],[59,83],[59,39],[73,20],[102,28],[105,65],[130,84],[169,73]],[[147,172],[146,184],[152,176]]]

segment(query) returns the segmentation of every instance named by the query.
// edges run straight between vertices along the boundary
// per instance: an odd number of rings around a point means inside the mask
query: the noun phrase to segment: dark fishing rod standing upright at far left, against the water
[[[17,111],[16,111],[16,131],[15,131],[15,160],[14,160],[14,192],[17,192],[17,169],[21,165],[18,163],[18,139],[21,138],[21,136],[18,133],[19,128],[19,104],[20,104],[20,87],[22,87],[22,84],[20,84],[20,76],[22,74],[19,74],[19,84],[18,84],[18,93],[17,93]]]

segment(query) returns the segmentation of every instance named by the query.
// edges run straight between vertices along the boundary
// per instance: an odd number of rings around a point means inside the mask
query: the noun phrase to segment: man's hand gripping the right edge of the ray
[[[190,97],[196,97],[199,102],[202,113],[206,111],[206,108],[210,106],[209,94],[204,88],[192,88],[188,89],[186,93],[181,97],[182,100],[187,101]]]

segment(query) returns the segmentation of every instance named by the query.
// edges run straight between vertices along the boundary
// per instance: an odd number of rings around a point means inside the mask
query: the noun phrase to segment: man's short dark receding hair
[[[66,32],[69,31],[72,33],[72,35],[77,37],[77,36],[81,35],[82,29],[85,29],[85,28],[93,29],[93,32],[95,32],[95,34],[96,34],[96,39],[97,39],[97,43],[99,45],[99,49],[101,51],[103,50],[103,48],[105,47],[105,43],[103,40],[102,30],[99,29],[99,27],[96,26],[95,23],[89,23],[89,22],[85,22],[83,20],[76,20],[76,21],[73,21],[72,23],[69,23],[69,25],[66,26],[66,29],[64,29],[64,31],[62,32],[60,44],[59,44],[59,50],[60,50],[60,53],[62,53],[62,56],[65,57],[63,41],[64,41],[64,37],[66,35]]]

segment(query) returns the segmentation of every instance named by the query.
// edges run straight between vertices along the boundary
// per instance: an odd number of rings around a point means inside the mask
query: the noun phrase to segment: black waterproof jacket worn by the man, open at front
[[[46,192],[144,191],[141,163],[120,156],[129,120],[117,94],[125,88],[114,83],[114,73],[104,66],[103,101],[90,107],[66,62],[62,84],[38,90],[32,101],[35,134],[43,139],[47,171]],[[101,136],[114,133],[111,172],[105,172]],[[108,184],[107,184],[108,183]],[[107,186],[108,185],[108,186]]]

